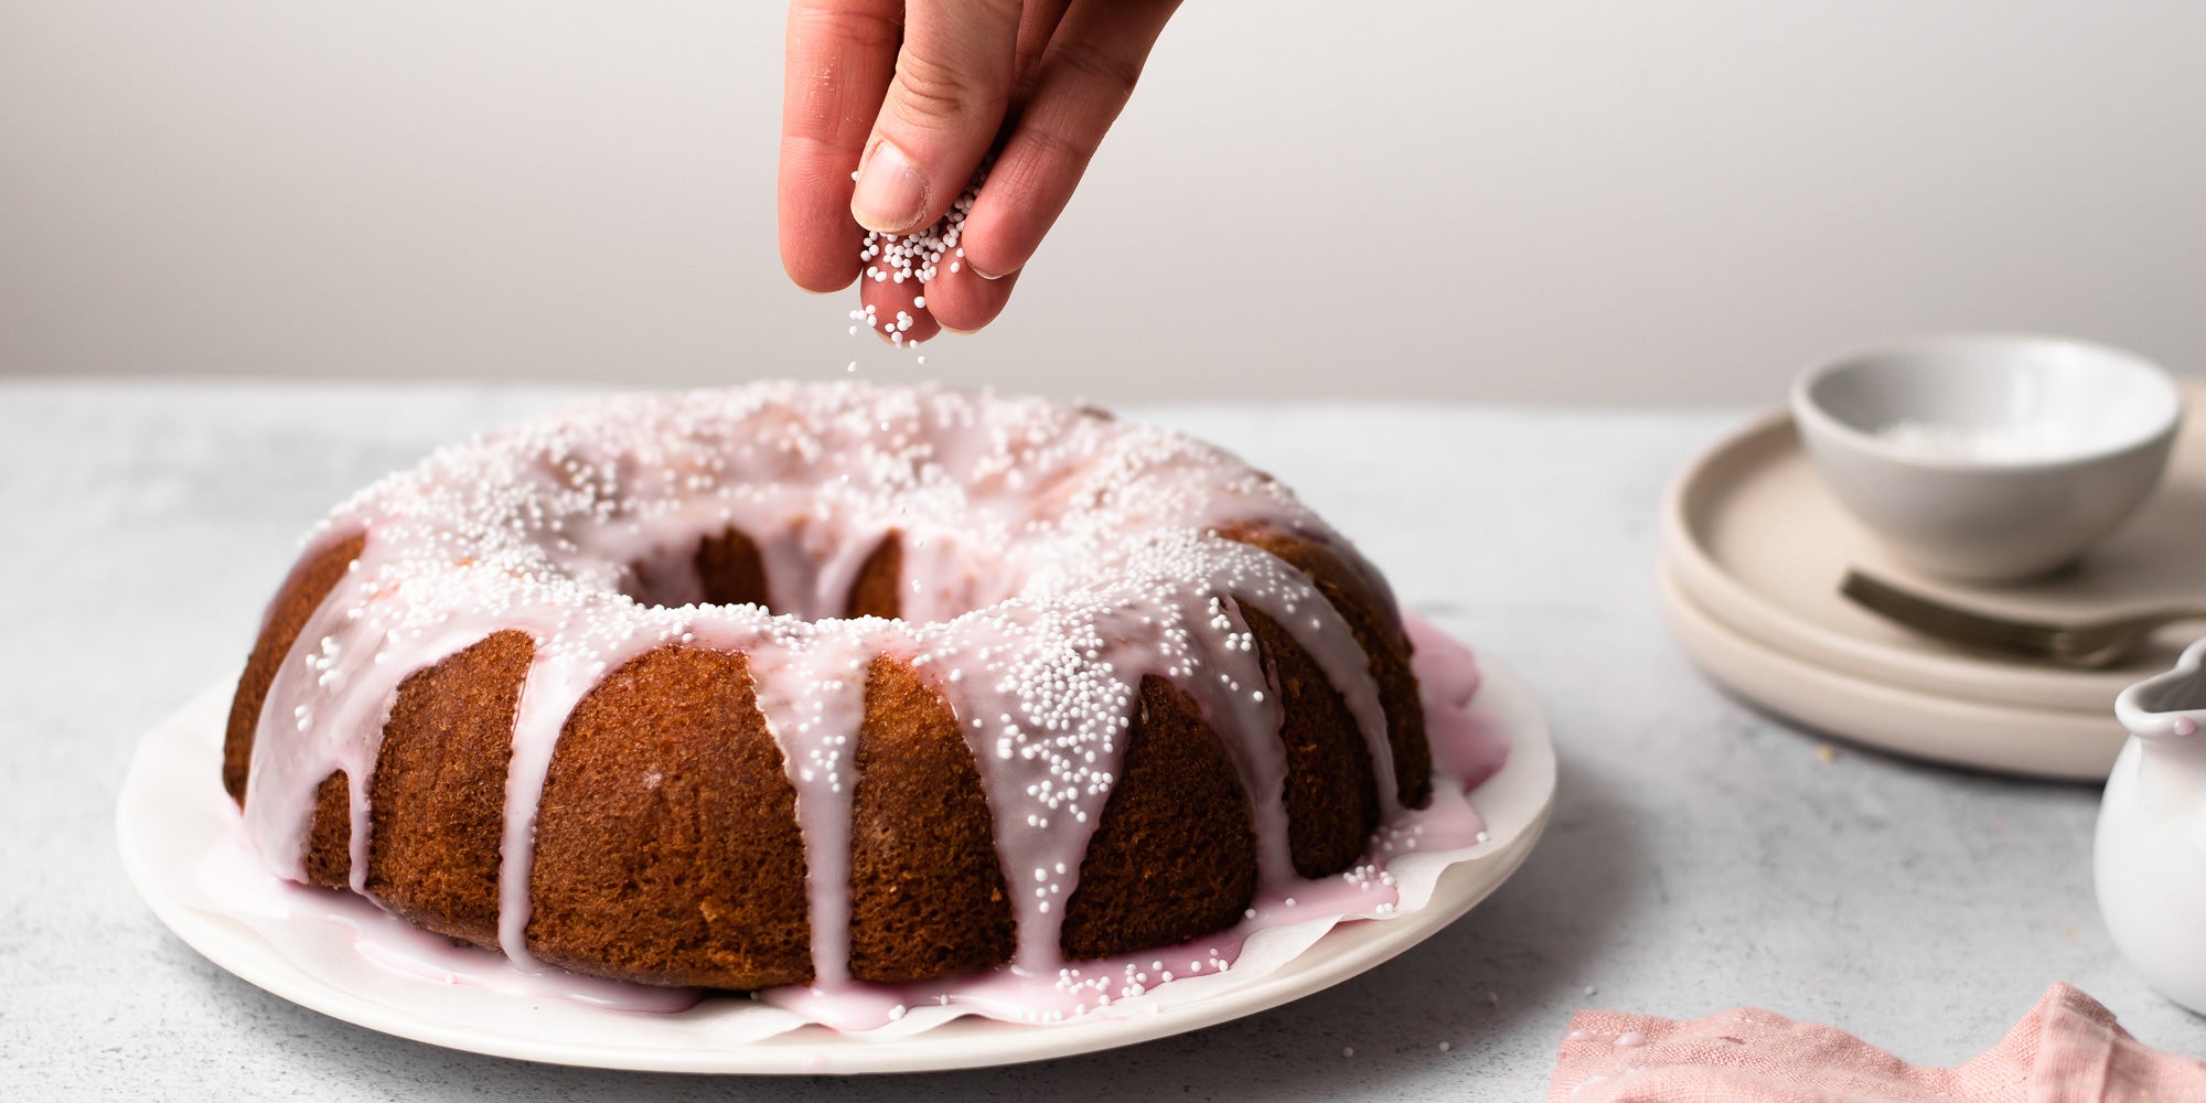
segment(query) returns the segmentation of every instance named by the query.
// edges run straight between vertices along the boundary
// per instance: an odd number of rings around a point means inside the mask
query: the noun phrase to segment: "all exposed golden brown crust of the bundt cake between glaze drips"
[[[1372,657],[1399,783],[1429,792],[1421,781],[1429,770],[1418,754],[1423,715],[1399,710],[1399,695],[1414,699],[1414,679],[1392,611],[1310,540],[1264,529],[1224,536],[1291,563],[1335,604]],[[278,602],[289,602],[285,624],[293,638],[362,543],[331,545],[298,571]],[[695,567],[708,598],[763,604],[759,552],[739,529],[699,540]],[[900,569],[902,545],[891,532],[858,571],[849,613],[896,615]],[[1346,699],[1293,633],[1253,607],[1242,615],[1282,702],[1282,799],[1295,871],[1339,874],[1363,854],[1379,821],[1370,752]],[[276,627],[271,618],[269,631]],[[371,893],[426,929],[483,946],[496,946],[505,763],[532,655],[529,638],[507,631],[410,675],[373,777]],[[615,671],[574,710],[538,812],[527,938],[540,957],[655,984],[757,988],[812,979],[794,790],[750,699],[748,671],[732,673],[746,664],[741,655],[660,649]],[[1399,677],[1388,673],[1396,666]],[[1167,679],[1145,677],[1141,702],[1121,785],[1065,904],[1061,946],[1074,960],[1222,931],[1255,896],[1249,796],[1222,743],[1193,699]],[[887,657],[867,673],[865,706],[852,796],[852,975],[911,982],[1008,962],[1017,929],[995,825],[955,715],[909,666]],[[715,735],[730,726],[735,735]],[[697,763],[686,739],[748,746],[748,754]],[[750,792],[735,788],[750,783],[779,790],[750,810],[770,823],[735,827],[739,810],[708,807],[715,801],[706,785],[693,785],[695,796],[638,790],[635,781],[653,772],[646,761],[684,763],[657,770],[662,777],[719,772],[724,794]],[[732,777],[748,781],[726,781]],[[651,796],[649,807],[638,803],[642,796]],[[675,818],[690,823],[668,836]],[[759,838],[710,871],[713,825],[724,838]],[[346,887],[349,843],[340,772],[318,790],[309,880]],[[765,880],[781,891],[761,893],[777,900],[735,900],[732,887],[761,885],[750,874],[759,869],[779,869]]]

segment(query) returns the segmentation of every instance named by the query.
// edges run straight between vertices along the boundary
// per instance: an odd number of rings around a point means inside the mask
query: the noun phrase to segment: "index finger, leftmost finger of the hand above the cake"
[[[902,0],[794,0],[781,75],[781,267],[805,291],[858,278],[852,170],[904,38]]]

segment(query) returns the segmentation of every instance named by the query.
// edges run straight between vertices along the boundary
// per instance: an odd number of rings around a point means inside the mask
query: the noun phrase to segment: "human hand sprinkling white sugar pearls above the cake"
[[[902,236],[942,221],[1002,139],[955,271],[946,258],[927,285],[858,287],[876,318],[911,315],[902,340],[995,320],[1178,4],[792,0],[779,181],[790,278],[807,291],[849,287],[867,229]]]

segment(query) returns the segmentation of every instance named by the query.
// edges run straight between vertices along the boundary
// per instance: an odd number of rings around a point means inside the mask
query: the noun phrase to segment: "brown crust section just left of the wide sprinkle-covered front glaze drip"
[[[973,750],[949,702],[876,657],[849,816],[849,973],[933,979],[1010,962],[1015,920]]]

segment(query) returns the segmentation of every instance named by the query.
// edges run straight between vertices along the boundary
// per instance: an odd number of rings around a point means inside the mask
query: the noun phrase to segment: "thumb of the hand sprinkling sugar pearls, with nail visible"
[[[911,0],[849,212],[911,234],[951,210],[1010,106],[1019,0]]]

